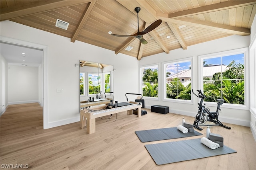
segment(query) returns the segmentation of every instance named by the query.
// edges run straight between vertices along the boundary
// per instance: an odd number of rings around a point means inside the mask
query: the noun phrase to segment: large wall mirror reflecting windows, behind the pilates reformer
[[[114,100],[114,67],[91,61],[79,61],[80,108],[94,107]]]

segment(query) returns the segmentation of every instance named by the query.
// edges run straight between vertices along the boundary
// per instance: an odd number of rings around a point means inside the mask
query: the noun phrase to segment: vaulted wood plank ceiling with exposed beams
[[[143,37],[146,45],[132,35],[138,31],[135,7],[140,7],[139,29],[152,22],[162,23]],[[142,57],[219,39],[250,35],[256,14],[255,0],[1,0],[0,20],[23,25],[123,53]],[[56,20],[68,29],[56,27]],[[126,47],[132,47],[130,51]]]

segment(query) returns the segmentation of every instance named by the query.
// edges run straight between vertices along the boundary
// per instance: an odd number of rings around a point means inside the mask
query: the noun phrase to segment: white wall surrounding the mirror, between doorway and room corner
[[[47,124],[55,127],[80,121],[79,60],[113,65],[114,98],[125,101],[125,93],[138,93],[138,60],[123,54],[75,41],[12,21],[1,21],[1,36],[47,46]],[[128,73],[128,74],[127,74]],[[124,81],[125,77],[125,81]],[[57,89],[63,89],[57,93]]]

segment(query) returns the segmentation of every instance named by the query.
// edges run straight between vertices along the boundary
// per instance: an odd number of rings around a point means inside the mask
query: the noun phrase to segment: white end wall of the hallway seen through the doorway
[[[38,103],[38,68],[8,64],[8,104]]]

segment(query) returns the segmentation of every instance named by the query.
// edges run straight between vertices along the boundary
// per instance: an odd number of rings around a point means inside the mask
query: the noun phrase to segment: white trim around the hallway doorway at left
[[[19,39],[13,39],[10,37],[0,36],[0,41],[5,43],[11,43],[14,45],[22,45],[25,47],[32,47],[35,49],[40,49],[43,51],[43,96],[42,96],[42,106],[43,106],[43,129],[48,129],[48,100],[47,100],[47,46],[37,43],[32,43],[28,41],[23,41]]]

